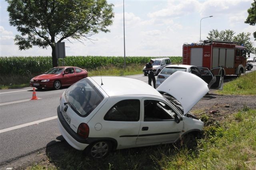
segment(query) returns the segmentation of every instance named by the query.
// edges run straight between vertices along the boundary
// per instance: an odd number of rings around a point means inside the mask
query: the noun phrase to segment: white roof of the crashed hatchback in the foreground
[[[120,76],[91,76],[88,78],[98,84],[108,96],[150,95],[162,97],[152,86],[135,78]]]

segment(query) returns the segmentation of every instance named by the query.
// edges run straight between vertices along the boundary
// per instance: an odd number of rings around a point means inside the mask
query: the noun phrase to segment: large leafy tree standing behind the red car
[[[114,12],[106,0],[7,0],[10,25],[20,35],[14,38],[20,50],[39,46],[52,48],[52,65],[58,65],[55,43],[62,40],[92,40],[98,32],[110,32]]]

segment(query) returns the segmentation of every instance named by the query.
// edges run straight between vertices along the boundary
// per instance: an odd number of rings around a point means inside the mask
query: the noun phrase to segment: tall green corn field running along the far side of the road
[[[146,64],[150,58],[156,57],[126,57],[126,65]],[[182,62],[182,57],[170,57],[172,64]],[[88,71],[102,66],[116,66],[122,68],[124,57],[108,56],[67,56],[58,59],[58,66],[77,66],[86,68]],[[0,57],[0,75],[18,74],[30,75],[41,74],[52,68],[52,57]]]

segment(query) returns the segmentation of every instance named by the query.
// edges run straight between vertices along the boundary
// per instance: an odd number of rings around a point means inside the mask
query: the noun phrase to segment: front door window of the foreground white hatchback
[[[175,112],[164,102],[144,100],[144,122],[174,120]]]

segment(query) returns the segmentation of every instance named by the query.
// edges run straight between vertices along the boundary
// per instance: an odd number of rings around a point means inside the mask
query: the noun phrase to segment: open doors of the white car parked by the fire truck
[[[198,67],[202,74],[202,79],[208,84],[209,89],[222,90],[224,82],[224,71],[221,67],[209,70],[206,67]]]

